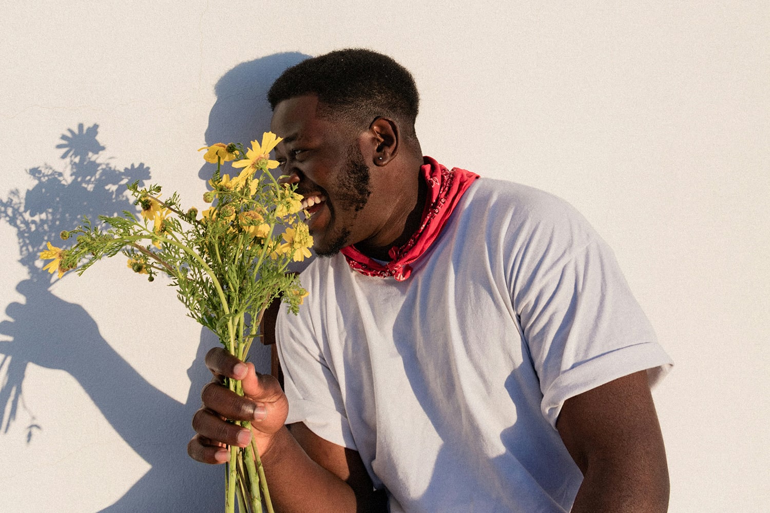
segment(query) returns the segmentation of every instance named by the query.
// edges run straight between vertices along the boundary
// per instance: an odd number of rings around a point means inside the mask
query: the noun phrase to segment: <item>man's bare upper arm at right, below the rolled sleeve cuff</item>
[[[556,428],[583,472],[572,513],[668,511],[668,465],[646,371],[567,399]]]

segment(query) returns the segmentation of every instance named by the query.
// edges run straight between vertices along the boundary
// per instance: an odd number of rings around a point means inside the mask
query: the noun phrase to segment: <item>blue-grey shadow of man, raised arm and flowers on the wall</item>
[[[216,85],[206,143],[246,142],[261,134],[271,114],[267,88],[285,68],[304,58],[300,53],[269,55],[223,75]],[[223,507],[222,469],[198,464],[186,454],[190,421],[200,406],[200,390],[210,379],[203,357],[217,344],[216,338],[203,330],[188,370],[188,396],[181,404],[142,378],[102,338],[84,308],[53,295],[53,275],[35,266],[45,242],[56,245],[59,232],[78,225],[83,215],[95,219],[136,210],[124,195],[125,186],[148,182],[149,168],[139,164],[119,170],[100,162],[105,148],[96,138],[98,130],[98,125],[81,124],[76,132],[62,135],[64,142],[57,148],[64,149],[65,171],[49,165],[29,169],[35,186],[23,193],[12,191],[0,201],[0,218],[16,229],[20,261],[29,274],[16,287],[25,303],[8,305],[6,314],[12,320],[0,323],[0,429],[8,433],[21,405],[29,419],[27,443],[35,443],[35,432],[47,426],[36,421],[35,405],[23,400],[26,368],[32,363],[67,371],[112,428],[152,466],[126,495],[102,511],[217,511]],[[199,175],[208,179],[211,172],[204,166]],[[44,312],[46,321],[40,322]],[[257,359],[269,368],[269,351],[261,351]]]

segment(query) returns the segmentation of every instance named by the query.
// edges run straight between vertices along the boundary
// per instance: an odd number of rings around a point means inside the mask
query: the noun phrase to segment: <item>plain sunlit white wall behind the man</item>
[[[0,510],[216,511],[221,469],[185,452],[215,342],[122,258],[51,285],[23,256],[108,208],[110,171],[200,206],[195,150],[266,128],[255,90],[367,46],[413,71],[428,155],[567,198],[614,248],[677,363],[670,511],[767,511],[770,7],[508,3],[4,2],[0,198],[26,217],[0,222]],[[80,123],[104,149],[71,165]],[[53,186],[96,168],[85,204]]]

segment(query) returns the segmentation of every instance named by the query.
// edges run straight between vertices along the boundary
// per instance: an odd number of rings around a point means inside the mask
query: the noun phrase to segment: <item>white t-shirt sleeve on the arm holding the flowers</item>
[[[297,316],[281,305],[276,338],[283,387],[289,399],[286,424],[303,422],[324,440],[356,450],[340,383],[323,354],[323,342],[313,331],[307,304],[300,307]]]

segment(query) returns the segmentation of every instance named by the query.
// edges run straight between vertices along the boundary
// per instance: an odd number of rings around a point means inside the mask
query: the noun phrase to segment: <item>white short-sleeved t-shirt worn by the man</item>
[[[287,423],[359,451],[390,511],[569,511],[561,405],[671,366],[607,245],[547,193],[478,179],[406,281],[343,255],[278,321]]]

